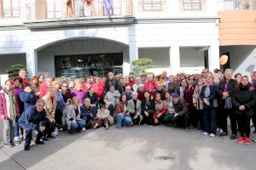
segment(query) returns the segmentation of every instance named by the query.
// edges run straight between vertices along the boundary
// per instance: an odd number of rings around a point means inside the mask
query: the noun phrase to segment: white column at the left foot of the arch
[[[38,52],[36,50],[28,50],[26,52],[26,69],[28,77],[38,75]]]

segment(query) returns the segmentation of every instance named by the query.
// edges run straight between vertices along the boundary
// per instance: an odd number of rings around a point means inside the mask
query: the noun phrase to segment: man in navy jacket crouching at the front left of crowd
[[[29,150],[32,136],[38,134],[36,144],[44,144],[40,141],[43,137],[46,123],[46,112],[44,110],[44,99],[38,99],[36,105],[30,106],[22,113],[19,126],[26,130],[26,142],[24,150]]]

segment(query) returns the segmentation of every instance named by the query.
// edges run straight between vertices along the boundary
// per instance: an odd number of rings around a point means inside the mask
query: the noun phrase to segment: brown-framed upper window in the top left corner
[[[0,0],[0,18],[20,17],[20,0]]]

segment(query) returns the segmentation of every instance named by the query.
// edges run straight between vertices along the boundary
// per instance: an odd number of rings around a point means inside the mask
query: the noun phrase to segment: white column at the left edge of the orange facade
[[[219,46],[218,42],[212,43],[208,49],[208,65],[209,71],[219,69]]]

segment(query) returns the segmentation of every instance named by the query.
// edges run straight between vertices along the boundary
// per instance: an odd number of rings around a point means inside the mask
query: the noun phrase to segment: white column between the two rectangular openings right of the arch
[[[172,75],[176,75],[180,72],[180,54],[178,46],[172,46],[170,48],[170,67]]]

